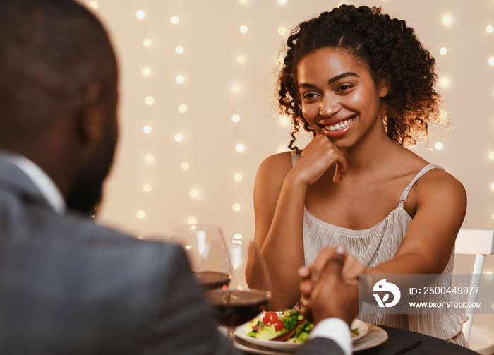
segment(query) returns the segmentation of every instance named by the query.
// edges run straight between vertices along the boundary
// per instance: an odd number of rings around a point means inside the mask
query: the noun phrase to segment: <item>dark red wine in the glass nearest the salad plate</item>
[[[269,301],[266,291],[255,289],[215,289],[207,291],[206,298],[215,308],[221,325],[230,329],[254,318]]]

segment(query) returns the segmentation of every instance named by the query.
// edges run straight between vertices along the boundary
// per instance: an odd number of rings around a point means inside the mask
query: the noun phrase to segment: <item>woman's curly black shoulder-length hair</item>
[[[381,99],[387,136],[400,145],[426,138],[428,124],[445,121],[441,97],[435,92],[435,59],[404,20],[390,18],[380,7],[342,5],[300,23],[288,37],[284,65],[278,78],[280,111],[291,116],[289,148],[301,126],[315,131],[303,118],[297,66],[304,56],[321,48],[337,48],[361,59],[375,83],[384,79],[390,91]]]

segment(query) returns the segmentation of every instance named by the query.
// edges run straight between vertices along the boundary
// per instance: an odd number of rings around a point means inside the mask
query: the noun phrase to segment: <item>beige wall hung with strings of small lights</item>
[[[253,182],[260,162],[286,149],[290,126],[275,107],[277,55],[301,20],[327,0],[83,0],[112,35],[121,66],[121,139],[100,220],[139,236],[176,224],[218,224],[227,239],[254,230]],[[95,4],[97,3],[97,4]],[[416,152],[457,177],[469,195],[464,228],[494,229],[494,1],[375,0],[413,26],[438,61],[438,91],[452,124],[435,128]],[[136,13],[144,12],[138,19]],[[172,16],[179,22],[171,23]],[[450,16],[450,23],[443,18]],[[241,25],[248,32],[241,34]],[[143,41],[150,40],[150,47]],[[177,54],[176,47],[183,46]],[[445,47],[447,54],[441,55]],[[245,61],[239,63],[239,56]],[[493,59],[494,60],[494,59]],[[149,68],[150,75],[143,74]],[[183,83],[176,76],[183,76]],[[238,92],[232,86],[238,85]],[[154,98],[147,105],[146,97]],[[179,112],[186,104],[187,112]],[[238,114],[234,123],[232,115]],[[143,132],[149,125],[151,133]],[[177,142],[180,133],[183,140]],[[435,148],[441,142],[442,150]],[[243,151],[236,151],[237,144]],[[146,162],[152,155],[154,160]],[[491,155],[491,156],[490,156]],[[181,164],[188,163],[188,170]],[[241,174],[241,181],[234,179]],[[151,190],[143,186],[149,183]],[[192,198],[191,190],[197,197]],[[240,210],[233,210],[234,204]],[[438,208],[441,208],[438,205]],[[138,211],[145,217],[139,219]],[[494,257],[486,271],[494,272]],[[471,272],[458,258],[457,272]],[[490,318],[492,320],[492,318]]]

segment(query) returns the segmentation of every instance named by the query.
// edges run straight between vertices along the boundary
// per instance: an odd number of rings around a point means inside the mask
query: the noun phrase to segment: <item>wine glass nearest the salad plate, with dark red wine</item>
[[[250,288],[246,286],[244,276],[247,253],[252,260],[251,272],[256,275],[255,282]],[[233,341],[235,327],[264,311],[266,303],[271,298],[271,281],[265,261],[252,241],[248,243],[248,250],[246,245],[232,246],[231,261],[234,277],[229,287],[207,291],[206,298],[215,308],[220,325],[228,328],[229,338]]]

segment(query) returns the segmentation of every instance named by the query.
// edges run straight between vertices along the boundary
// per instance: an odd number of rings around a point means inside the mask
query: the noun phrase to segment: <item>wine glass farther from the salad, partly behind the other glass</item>
[[[174,227],[171,239],[188,255],[195,280],[205,290],[226,289],[231,280],[231,261],[222,229],[206,224]]]

